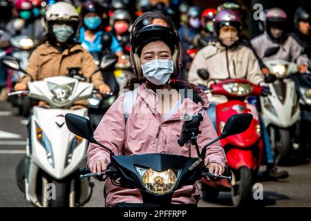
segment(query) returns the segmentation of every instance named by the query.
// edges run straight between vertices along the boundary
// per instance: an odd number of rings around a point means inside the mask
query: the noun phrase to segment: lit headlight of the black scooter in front
[[[153,169],[143,169],[136,167],[142,183],[147,190],[158,195],[171,191],[176,185],[180,175],[180,170],[168,169],[167,171],[157,172]]]

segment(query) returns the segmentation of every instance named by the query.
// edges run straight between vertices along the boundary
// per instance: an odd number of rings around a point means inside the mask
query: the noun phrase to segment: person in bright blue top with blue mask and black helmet
[[[104,32],[102,26],[102,8],[95,1],[86,1],[82,4],[80,12],[81,28],[79,28],[79,41],[82,47],[91,52],[96,61],[111,52],[121,59],[123,49],[117,39],[109,32]],[[109,39],[106,41],[105,39]]]

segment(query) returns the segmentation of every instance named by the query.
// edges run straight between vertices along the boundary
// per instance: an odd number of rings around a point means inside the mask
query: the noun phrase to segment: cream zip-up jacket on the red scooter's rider
[[[207,81],[198,76],[199,69],[209,72]],[[227,49],[219,41],[213,41],[198,51],[191,64],[188,81],[209,86],[215,81],[224,79],[246,79],[253,84],[263,82],[258,59],[252,49],[242,44],[236,48]]]

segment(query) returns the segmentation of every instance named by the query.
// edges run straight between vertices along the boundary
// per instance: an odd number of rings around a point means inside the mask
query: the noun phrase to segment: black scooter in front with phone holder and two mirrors
[[[82,169],[80,178],[97,177],[99,180],[104,180],[103,176],[105,175],[105,177],[110,177],[113,184],[117,186],[140,191],[143,204],[122,203],[117,206],[162,207],[172,206],[171,199],[176,190],[182,186],[194,184],[196,180],[200,180],[202,177],[207,177],[209,180],[232,179],[229,171],[226,171],[224,175],[216,175],[207,171],[204,164],[207,146],[229,135],[236,135],[247,130],[252,122],[252,115],[232,115],[225,124],[220,137],[206,144],[201,152],[196,140],[197,135],[201,133],[198,127],[203,117],[200,114],[192,117],[185,115],[178,144],[183,146],[186,142],[191,142],[196,147],[198,157],[185,157],[167,153],[115,155],[110,148],[94,139],[93,130],[88,119],[73,114],[66,114],[65,119],[69,131],[101,146],[109,151],[111,155],[111,162],[106,171],[90,173],[89,169]]]

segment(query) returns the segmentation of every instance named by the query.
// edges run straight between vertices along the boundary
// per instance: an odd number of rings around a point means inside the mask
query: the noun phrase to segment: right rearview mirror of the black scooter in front
[[[225,138],[246,131],[247,128],[249,128],[249,125],[252,123],[252,119],[253,115],[250,113],[232,115],[227,120],[225,127],[223,128],[223,133],[220,137]]]

